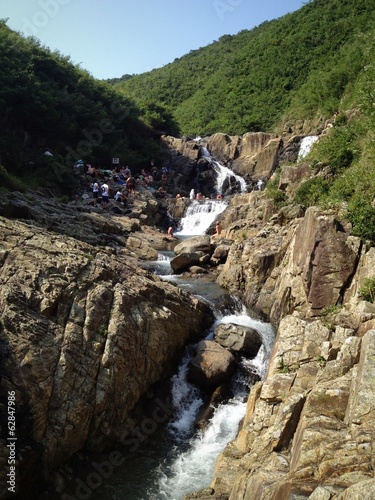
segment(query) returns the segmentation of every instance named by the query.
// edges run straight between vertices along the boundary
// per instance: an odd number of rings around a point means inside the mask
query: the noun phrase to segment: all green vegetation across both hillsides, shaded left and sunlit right
[[[108,82],[0,21],[0,189],[74,191],[81,157],[106,168],[120,157],[140,169],[158,158],[160,133],[277,132],[335,113],[294,200],[276,181],[267,190],[280,205],[335,207],[353,234],[375,241],[374,7],[313,0],[163,68]]]

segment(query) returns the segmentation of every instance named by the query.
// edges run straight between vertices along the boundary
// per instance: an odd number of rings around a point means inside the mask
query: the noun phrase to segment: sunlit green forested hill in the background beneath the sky
[[[183,134],[271,131],[286,116],[332,115],[366,66],[375,0],[314,0],[114,87],[147,123]],[[250,20],[249,20],[250,23]]]

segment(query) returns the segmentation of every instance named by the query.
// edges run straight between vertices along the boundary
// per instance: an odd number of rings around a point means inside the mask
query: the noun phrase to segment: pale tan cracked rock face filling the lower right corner
[[[373,497],[375,330],[354,335],[282,320],[267,378],[217,462],[212,498]]]

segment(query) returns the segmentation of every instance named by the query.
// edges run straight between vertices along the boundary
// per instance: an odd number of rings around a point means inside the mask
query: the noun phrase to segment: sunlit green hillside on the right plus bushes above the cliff
[[[338,114],[313,148],[311,179],[294,201],[335,207],[354,235],[375,240],[374,8],[375,0],[314,0],[113,84],[143,109],[162,104],[185,134],[283,130]],[[291,201],[277,177],[268,191],[279,205]]]

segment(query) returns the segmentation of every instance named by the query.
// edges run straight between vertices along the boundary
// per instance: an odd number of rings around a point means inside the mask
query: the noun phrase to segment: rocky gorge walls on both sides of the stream
[[[308,162],[296,162],[303,137],[325,129],[302,132],[215,134],[204,147],[248,185],[264,179],[267,189],[280,166],[288,194],[311,177]],[[186,190],[204,155],[193,140],[162,142],[174,187]],[[187,498],[370,498],[375,305],[360,290],[374,248],[333,210],[279,208],[259,190],[224,200],[223,238],[210,240],[209,259],[226,249],[209,272],[272,324],[276,341],[210,486]],[[163,203],[181,219],[190,201]],[[53,498],[46,481],[63,498],[63,473],[74,476],[64,464],[75,454],[112,448],[115,468],[129,429],[155,411],[160,421],[169,416],[160,382],[214,317],[204,300],[138,265],[165,245],[155,229],[161,213],[147,190],[130,216],[98,213],[82,200],[65,206],[42,194],[1,195],[2,391],[16,397],[20,498],[27,484]]]

